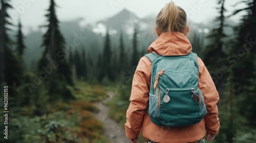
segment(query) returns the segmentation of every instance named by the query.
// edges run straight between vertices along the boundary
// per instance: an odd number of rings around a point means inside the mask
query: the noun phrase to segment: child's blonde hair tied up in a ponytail
[[[171,1],[158,13],[156,18],[156,28],[160,33],[181,32],[186,34],[186,12]]]

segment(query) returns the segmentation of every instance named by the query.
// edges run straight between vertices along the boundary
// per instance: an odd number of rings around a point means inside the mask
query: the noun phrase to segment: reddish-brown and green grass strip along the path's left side
[[[78,136],[85,136],[86,138],[84,139],[88,140],[88,142],[108,143],[109,140],[101,135],[104,130],[103,124],[94,116],[94,113],[98,112],[99,109],[93,104],[108,98],[105,87],[90,85],[86,82],[77,82],[74,96],[77,101],[72,102],[71,106],[73,110],[78,111],[81,117]]]

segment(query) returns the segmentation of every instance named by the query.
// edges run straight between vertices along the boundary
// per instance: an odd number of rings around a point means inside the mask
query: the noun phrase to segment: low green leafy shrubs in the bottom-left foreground
[[[74,137],[79,120],[77,115],[67,116],[64,112],[55,112],[43,116],[12,117],[9,124],[10,142],[78,142]],[[1,138],[2,139],[2,138]]]

